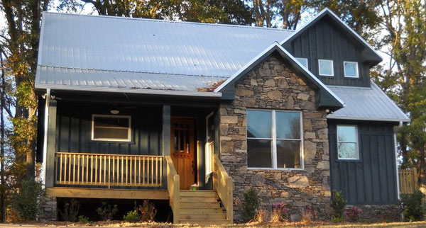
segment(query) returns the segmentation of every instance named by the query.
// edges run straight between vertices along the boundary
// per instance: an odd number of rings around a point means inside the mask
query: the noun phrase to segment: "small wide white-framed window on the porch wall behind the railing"
[[[131,141],[129,115],[92,115],[92,140]]]

